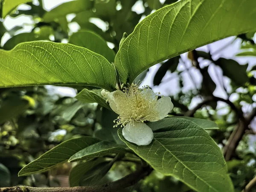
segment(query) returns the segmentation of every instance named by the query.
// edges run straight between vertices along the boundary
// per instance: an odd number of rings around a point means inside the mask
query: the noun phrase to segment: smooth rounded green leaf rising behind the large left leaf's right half
[[[70,44],[87,48],[104,56],[110,63],[115,60],[115,52],[110,49],[107,42],[92,31],[79,31],[73,33],[69,39]]]

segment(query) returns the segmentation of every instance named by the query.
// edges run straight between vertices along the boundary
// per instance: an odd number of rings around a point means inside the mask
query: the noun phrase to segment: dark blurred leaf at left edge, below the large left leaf
[[[11,96],[0,104],[0,123],[16,117],[29,108],[29,101],[21,96]]]

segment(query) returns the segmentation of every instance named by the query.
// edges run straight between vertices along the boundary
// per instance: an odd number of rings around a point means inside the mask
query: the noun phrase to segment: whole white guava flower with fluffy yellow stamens
[[[108,99],[111,109],[119,114],[114,127],[124,127],[122,135],[137,145],[148,145],[153,140],[153,131],[144,122],[163,119],[173,108],[170,97],[158,99],[158,95],[147,86],[139,88],[137,84],[131,84],[123,91],[102,90],[101,93]]]

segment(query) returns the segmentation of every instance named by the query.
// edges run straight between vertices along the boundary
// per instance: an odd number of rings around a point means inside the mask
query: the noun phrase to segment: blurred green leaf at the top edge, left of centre
[[[92,9],[94,5],[93,0],[75,0],[62,3],[44,14],[44,22],[52,22],[58,17],[66,16],[70,13],[79,13],[85,10]]]

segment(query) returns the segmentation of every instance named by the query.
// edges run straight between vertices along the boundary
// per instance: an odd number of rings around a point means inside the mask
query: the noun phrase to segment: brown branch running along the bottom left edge
[[[149,175],[152,168],[147,166],[131,173],[119,180],[105,183],[99,186],[77,186],[77,187],[31,187],[14,186],[0,188],[0,192],[116,192],[125,187],[132,186]]]

